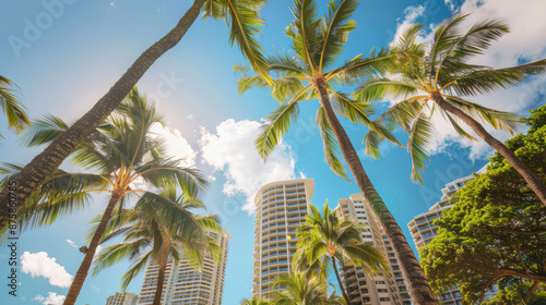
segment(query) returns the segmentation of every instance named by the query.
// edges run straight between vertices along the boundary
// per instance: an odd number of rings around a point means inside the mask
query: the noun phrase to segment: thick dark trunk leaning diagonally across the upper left
[[[19,185],[17,204],[20,207],[26,205],[26,199],[72,154],[75,145],[93,132],[100,120],[118,107],[150,66],[180,41],[186,32],[198,19],[204,2],[205,0],[194,0],[178,24],[167,35],[145,50],[87,113],[23,168],[21,173],[14,179]],[[0,205],[0,228],[3,228],[8,221],[9,193],[7,190],[0,193],[0,203],[3,203]]]

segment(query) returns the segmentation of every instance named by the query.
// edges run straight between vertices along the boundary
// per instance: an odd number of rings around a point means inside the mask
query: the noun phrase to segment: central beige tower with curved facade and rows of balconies
[[[252,295],[272,297],[271,284],[290,272],[296,229],[307,216],[314,182],[301,179],[270,183],[256,195]]]

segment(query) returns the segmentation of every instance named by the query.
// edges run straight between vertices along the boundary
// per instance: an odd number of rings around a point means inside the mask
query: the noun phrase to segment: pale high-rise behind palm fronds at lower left
[[[163,305],[221,305],[224,290],[225,269],[227,263],[229,234],[222,230],[222,234],[209,232],[216,239],[222,248],[223,257],[216,263],[212,257],[205,257],[201,271],[180,260],[174,266],[173,260],[167,264],[165,281],[163,283]],[[150,264],[144,274],[139,295],[139,304],[152,304],[157,285],[159,266]]]

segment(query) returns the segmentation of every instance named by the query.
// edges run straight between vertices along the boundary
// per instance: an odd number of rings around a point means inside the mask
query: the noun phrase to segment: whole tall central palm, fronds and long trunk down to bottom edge
[[[401,263],[404,279],[412,300],[416,304],[437,304],[419,263],[406,239],[383,200],[377,193],[363,168],[360,159],[351,143],[336,113],[353,123],[361,123],[368,129],[400,145],[389,131],[368,118],[372,113],[370,105],[356,101],[348,95],[340,93],[340,85],[354,84],[360,77],[372,77],[376,73],[385,72],[392,64],[388,52],[371,51],[368,58],[357,56],[341,66],[330,68],[342,53],[351,30],[356,23],[353,15],[357,0],[333,0],[329,4],[325,17],[319,19],[316,2],[312,0],[295,0],[293,13],[295,21],[286,29],[292,38],[295,54],[274,54],[266,59],[271,71],[276,74],[272,86],[272,96],[283,105],[277,107],[268,118],[261,135],[256,141],[259,154],[263,159],[271,154],[288,131],[298,115],[299,102],[318,99],[316,123],[321,131],[325,161],[340,176],[348,180],[345,168],[337,158],[341,150],[358,188],[370,203],[373,211],[385,228]],[[239,91],[251,87],[265,87],[268,83],[261,75],[249,75],[248,69],[237,68],[244,76],[239,78]]]

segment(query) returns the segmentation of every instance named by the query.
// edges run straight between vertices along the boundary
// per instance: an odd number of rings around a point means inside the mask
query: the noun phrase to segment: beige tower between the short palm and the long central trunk
[[[387,272],[373,272],[370,278],[361,267],[344,266],[341,268],[343,284],[352,305],[410,305],[410,295],[394,251],[379,219],[361,194],[339,200],[336,207],[344,219],[365,223],[368,229],[361,234],[364,242],[372,243],[381,249],[389,264],[391,277]]]

